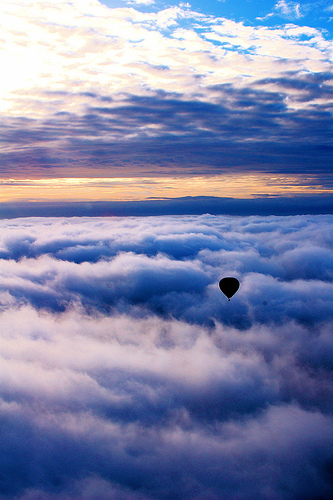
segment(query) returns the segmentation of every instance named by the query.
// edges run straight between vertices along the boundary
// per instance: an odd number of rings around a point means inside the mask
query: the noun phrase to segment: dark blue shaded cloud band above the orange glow
[[[9,120],[2,131],[11,144],[2,153],[2,176],[10,167],[11,176],[22,171],[57,176],[57,170],[90,176],[92,164],[95,176],[117,177],[203,175],[217,169],[313,174],[314,164],[321,164],[315,172],[325,182],[323,174],[331,172],[329,82],[326,73],[295,74],[257,80],[252,89],[213,85],[214,104],[158,94],[101,106],[97,98],[82,117],[60,115],[45,126],[38,120]],[[317,104],[291,111],[287,97],[301,108]]]

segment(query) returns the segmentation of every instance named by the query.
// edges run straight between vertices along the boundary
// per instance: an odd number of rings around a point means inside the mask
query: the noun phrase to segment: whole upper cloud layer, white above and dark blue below
[[[330,171],[320,30],[181,6],[1,5],[2,178]]]

